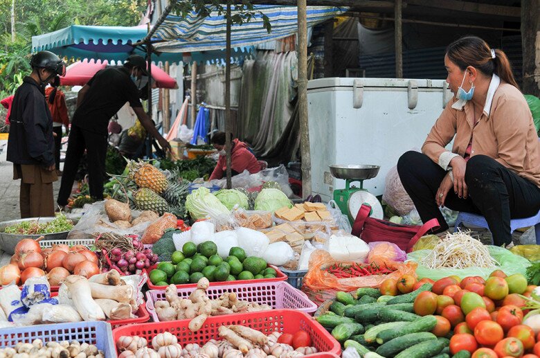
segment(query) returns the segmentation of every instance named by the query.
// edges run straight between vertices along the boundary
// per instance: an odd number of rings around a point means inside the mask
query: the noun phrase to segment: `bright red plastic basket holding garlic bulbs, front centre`
[[[188,329],[188,323],[189,321],[185,320],[126,325],[113,330],[113,339],[116,342],[122,336],[138,336],[150,342],[158,333],[171,332],[177,336],[181,346],[188,343],[197,343],[202,346],[210,339],[219,339],[217,332],[220,326],[244,325],[264,334],[270,334],[274,331],[294,333],[298,330],[304,330],[312,337],[313,346],[321,352],[305,357],[327,357],[327,355],[323,355],[326,353],[341,355],[341,346],[338,341],[322,325],[314,321],[308,314],[295,310],[271,310],[213,316],[206,319],[202,328],[197,332],[191,332]]]

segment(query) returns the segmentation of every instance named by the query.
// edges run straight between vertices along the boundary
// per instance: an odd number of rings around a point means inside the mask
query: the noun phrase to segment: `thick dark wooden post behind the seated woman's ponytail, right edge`
[[[540,0],[521,1],[521,48],[525,94],[540,97]]]

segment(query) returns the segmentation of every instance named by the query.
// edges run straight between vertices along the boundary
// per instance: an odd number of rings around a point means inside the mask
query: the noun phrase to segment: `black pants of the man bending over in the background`
[[[57,199],[59,205],[64,206],[67,204],[84,150],[87,150],[90,195],[96,199],[103,199],[107,136],[71,125],[64,171],[62,172],[62,184],[60,184]]]

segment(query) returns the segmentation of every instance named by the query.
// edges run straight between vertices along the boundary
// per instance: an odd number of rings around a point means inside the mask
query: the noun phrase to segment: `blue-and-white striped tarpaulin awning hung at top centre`
[[[231,46],[253,46],[263,42],[282,39],[298,31],[298,9],[296,6],[254,6],[255,12],[263,12],[270,20],[271,32],[263,27],[262,15],[257,14],[249,22],[233,24]],[[332,6],[308,6],[307,26],[311,27],[345,12],[348,8]],[[233,10],[231,15],[235,15]],[[187,17],[167,15],[163,24],[152,36],[156,51],[182,53],[210,51],[226,46],[226,20],[217,12],[209,17],[198,17],[192,12]]]

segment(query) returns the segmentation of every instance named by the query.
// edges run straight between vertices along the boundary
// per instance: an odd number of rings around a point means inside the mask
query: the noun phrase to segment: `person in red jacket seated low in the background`
[[[215,169],[210,175],[210,180],[222,179],[226,173],[227,159],[225,156],[225,133],[216,132],[210,139],[212,145],[219,151],[219,159]],[[248,170],[251,174],[260,172],[260,163],[255,156],[248,150],[246,143],[233,139],[231,142],[231,172],[232,175],[240,174]]]

